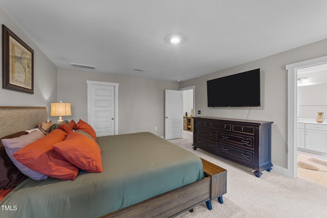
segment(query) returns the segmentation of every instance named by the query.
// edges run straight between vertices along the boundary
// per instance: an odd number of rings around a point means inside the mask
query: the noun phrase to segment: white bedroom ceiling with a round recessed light
[[[327,38],[325,0],[0,0],[0,8],[58,68],[77,63],[158,80],[184,81]],[[171,34],[182,42],[169,43]]]

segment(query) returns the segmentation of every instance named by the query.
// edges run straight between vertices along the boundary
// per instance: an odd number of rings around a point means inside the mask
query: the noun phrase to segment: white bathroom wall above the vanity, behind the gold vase
[[[327,83],[297,87],[300,118],[317,118],[318,112],[327,112]]]

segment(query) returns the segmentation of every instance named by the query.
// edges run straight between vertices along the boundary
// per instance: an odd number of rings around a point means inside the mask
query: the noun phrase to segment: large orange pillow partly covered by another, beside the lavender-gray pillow
[[[58,155],[53,144],[65,139],[67,133],[55,129],[48,135],[28,144],[13,156],[38,173],[57,179],[75,179],[79,168]]]

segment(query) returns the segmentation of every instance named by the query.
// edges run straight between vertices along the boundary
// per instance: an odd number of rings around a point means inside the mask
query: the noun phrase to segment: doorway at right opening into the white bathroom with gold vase
[[[297,70],[297,177],[327,187],[327,64]],[[320,122],[322,121],[322,122]]]

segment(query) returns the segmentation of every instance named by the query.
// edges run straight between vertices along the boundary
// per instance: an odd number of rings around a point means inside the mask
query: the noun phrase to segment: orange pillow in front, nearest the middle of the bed
[[[101,173],[101,150],[92,138],[78,132],[69,132],[64,141],[53,145],[55,151],[73,165],[87,172]]]

